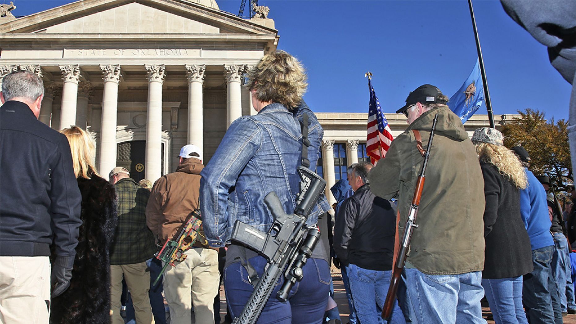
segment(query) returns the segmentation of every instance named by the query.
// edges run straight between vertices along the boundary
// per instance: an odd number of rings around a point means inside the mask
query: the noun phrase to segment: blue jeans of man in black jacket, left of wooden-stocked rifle
[[[380,310],[384,307],[392,270],[369,270],[355,264],[349,264],[346,271],[348,272],[348,279],[350,279],[350,289],[358,320],[362,324],[387,323],[380,316],[378,307]],[[390,323],[406,323],[404,314],[398,306],[398,300],[394,300]]]

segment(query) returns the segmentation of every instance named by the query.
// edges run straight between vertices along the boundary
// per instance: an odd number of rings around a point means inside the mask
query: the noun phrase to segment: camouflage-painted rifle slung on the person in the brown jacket
[[[164,246],[160,252],[156,253],[156,258],[164,263],[162,270],[154,280],[152,285],[156,285],[158,280],[162,277],[162,273],[168,268],[168,266],[174,266],[174,262],[182,262],[186,260],[185,251],[190,249],[190,247],[198,240],[200,234],[200,226],[202,226],[202,216],[200,215],[200,209],[194,209],[186,218],[186,222],[182,224],[180,230],[172,239],[166,239]]]

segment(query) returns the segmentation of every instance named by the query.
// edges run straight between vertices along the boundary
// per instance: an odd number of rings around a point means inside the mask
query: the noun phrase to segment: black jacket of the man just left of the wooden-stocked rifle
[[[344,200],[334,226],[334,250],[344,265],[391,270],[396,205],[374,196],[365,184]]]

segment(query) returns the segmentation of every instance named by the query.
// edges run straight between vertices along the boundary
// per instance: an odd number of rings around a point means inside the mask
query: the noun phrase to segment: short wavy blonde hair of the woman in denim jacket
[[[279,102],[292,110],[300,104],[308,83],[304,67],[285,51],[264,55],[248,70],[249,90],[262,102]]]

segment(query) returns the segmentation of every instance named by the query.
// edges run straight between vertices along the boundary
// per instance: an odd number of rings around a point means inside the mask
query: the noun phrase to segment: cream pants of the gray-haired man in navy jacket
[[[0,257],[0,323],[47,324],[48,319],[48,257]]]

